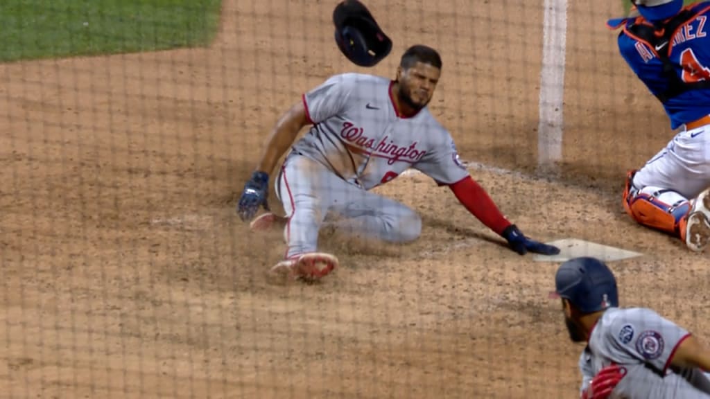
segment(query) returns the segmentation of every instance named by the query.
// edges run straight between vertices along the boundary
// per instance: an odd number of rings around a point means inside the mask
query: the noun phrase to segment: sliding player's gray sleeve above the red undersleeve
[[[434,179],[438,185],[450,185],[468,177],[469,171],[466,170],[466,165],[461,163],[454,139],[442,128],[437,130],[432,133],[442,136],[442,139],[437,140],[413,168]]]

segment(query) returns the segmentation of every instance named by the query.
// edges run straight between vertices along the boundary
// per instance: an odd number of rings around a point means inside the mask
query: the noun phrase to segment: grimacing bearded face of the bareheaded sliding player
[[[429,104],[439,82],[441,70],[433,65],[417,62],[408,70],[399,72],[400,99],[417,110]]]

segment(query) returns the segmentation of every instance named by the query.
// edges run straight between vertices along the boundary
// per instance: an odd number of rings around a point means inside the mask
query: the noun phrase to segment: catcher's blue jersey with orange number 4
[[[710,80],[710,2],[693,6],[698,14],[686,26],[679,28],[671,40],[670,61],[676,74],[684,82]],[[633,23],[630,18],[627,26]],[[622,31],[618,36],[618,48],[629,67],[643,81],[652,94],[664,92],[669,82],[663,76],[663,64],[655,49],[650,48]],[[673,97],[664,104],[670,118],[671,129],[700,119],[710,114],[710,89],[691,90]]]

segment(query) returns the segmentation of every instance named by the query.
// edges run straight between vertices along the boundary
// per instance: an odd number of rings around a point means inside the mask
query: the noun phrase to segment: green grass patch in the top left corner
[[[207,45],[221,0],[0,0],[0,62]]]

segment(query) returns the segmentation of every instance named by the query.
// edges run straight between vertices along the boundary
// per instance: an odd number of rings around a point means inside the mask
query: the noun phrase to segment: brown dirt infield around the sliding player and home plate
[[[368,1],[395,41],[368,72],[438,48],[432,109],[461,157],[532,174],[542,1],[468,3]],[[209,49],[0,65],[1,397],[576,395],[581,348],[547,299],[557,264],[498,245],[421,175],[379,189],[421,212],[415,244],[324,235],[343,264],[324,283],[266,283],[281,233],[248,234],[234,206],[278,114],[365,71],[335,48],[333,6],[225,1]],[[570,5],[562,178],[471,173],[535,238],[644,253],[611,263],[622,305],[707,339],[708,258],[621,208],[626,169],[672,132],[616,54],[615,9]]]

